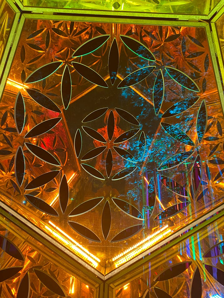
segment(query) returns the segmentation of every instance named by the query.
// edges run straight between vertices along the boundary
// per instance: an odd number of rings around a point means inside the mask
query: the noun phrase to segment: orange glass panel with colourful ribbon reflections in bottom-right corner
[[[143,275],[122,280],[117,298],[213,297],[224,293],[223,219],[203,228],[142,266]],[[138,272],[140,272],[138,270]]]

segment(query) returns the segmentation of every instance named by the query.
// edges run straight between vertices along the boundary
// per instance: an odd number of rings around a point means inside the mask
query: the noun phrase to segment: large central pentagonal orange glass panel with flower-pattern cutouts
[[[26,20],[0,111],[2,200],[104,274],[222,203],[204,28]]]

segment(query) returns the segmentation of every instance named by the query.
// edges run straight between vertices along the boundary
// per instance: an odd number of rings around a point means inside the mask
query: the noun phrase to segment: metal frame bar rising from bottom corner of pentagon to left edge
[[[100,283],[104,280],[104,275],[102,273],[91,267],[82,259],[78,258],[66,247],[58,243],[52,237],[48,236],[40,228],[35,226],[35,224],[30,223],[26,218],[21,216],[2,201],[0,201],[0,215],[1,214],[31,237],[35,238],[37,241],[48,247],[51,251],[65,260],[66,262],[63,261],[61,263],[61,266],[64,270],[71,270],[70,266],[72,265],[74,273],[77,275],[81,273],[82,278],[85,278],[85,280],[89,278],[89,281],[94,281],[95,285],[100,285]],[[69,269],[66,269],[66,265],[69,267]]]

